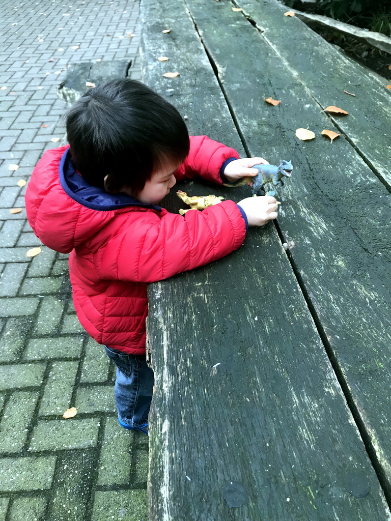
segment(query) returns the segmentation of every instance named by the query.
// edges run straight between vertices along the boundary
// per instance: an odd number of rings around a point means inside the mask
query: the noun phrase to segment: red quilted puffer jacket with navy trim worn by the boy
[[[190,139],[177,179],[199,175],[222,184],[219,170],[233,148],[206,136]],[[215,261],[244,241],[246,223],[233,201],[185,216],[127,194],[91,187],[68,147],[45,152],[26,193],[30,226],[46,246],[69,253],[77,316],[100,344],[145,352],[146,283]]]

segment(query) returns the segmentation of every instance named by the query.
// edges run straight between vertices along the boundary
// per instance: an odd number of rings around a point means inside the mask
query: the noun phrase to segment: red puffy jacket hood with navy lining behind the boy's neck
[[[43,244],[61,253],[88,240],[116,214],[148,209],[161,207],[88,184],[76,170],[68,146],[44,153],[26,191],[31,228]]]

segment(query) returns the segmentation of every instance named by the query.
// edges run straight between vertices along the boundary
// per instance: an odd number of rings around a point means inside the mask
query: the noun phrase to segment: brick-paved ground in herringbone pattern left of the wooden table
[[[138,2],[0,6],[0,521],[146,521],[148,439],[117,425],[114,368],[78,324],[67,256],[26,256],[40,243],[17,184],[63,140],[68,64],[126,58],[140,77]]]

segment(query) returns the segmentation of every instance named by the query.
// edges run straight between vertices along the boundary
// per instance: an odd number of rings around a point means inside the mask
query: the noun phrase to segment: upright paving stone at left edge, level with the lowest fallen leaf
[[[0,422],[0,451],[19,452],[25,444],[38,391],[15,391],[11,394]]]

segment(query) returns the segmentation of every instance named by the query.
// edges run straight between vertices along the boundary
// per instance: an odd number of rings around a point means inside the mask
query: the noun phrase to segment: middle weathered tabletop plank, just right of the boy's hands
[[[188,6],[215,67],[223,71],[219,77],[250,152],[258,153],[262,143],[264,157],[292,159],[296,166],[284,191],[279,226],[389,488],[390,194],[345,139],[330,144],[320,135],[311,142],[295,138],[298,127],[318,134],[333,130],[331,121],[299,75],[284,81],[286,68],[274,44],[241,13],[199,0],[189,0]],[[303,26],[303,41],[306,31]],[[238,42],[247,52],[233,60]],[[269,95],[284,103],[262,103]],[[380,152],[373,152],[378,164]]]

